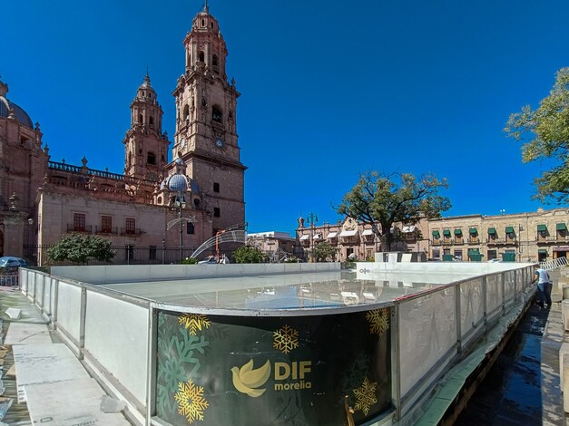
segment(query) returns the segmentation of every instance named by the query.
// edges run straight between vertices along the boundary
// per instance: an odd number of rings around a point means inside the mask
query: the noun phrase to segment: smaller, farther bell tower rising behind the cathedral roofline
[[[124,144],[124,174],[136,179],[159,181],[168,163],[168,135],[162,133],[162,107],[148,73],[131,102],[131,128]]]

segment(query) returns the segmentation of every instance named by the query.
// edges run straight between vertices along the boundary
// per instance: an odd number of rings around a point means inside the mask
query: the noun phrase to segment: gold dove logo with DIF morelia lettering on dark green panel
[[[311,372],[311,361],[299,361],[292,363],[274,363],[274,390],[291,391],[311,389],[312,382],[306,381],[307,374]],[[241,367],[231,368],[233,386],[241,393],[257,398],[267,388],[264,387],[271,373],[270,362],[267,361],[261,367],[254,369],[253,360]]]

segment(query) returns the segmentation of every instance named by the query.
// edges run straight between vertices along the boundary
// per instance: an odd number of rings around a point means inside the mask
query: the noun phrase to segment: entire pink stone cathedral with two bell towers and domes
[[[183,46],[185,69],[172,93],[173,141],[162,131],[162,107],[147,73],[131,102],[123,174],[90,169],[84,158],[81,165],[50,160],[39,124],[8,100],[0,81],[1,256],[45,265],[48,247],[82,233],[124,247],[116,263],[179,262],[223,230],[244,225],[240,93],[225,73],[227,47],[207,2]]]

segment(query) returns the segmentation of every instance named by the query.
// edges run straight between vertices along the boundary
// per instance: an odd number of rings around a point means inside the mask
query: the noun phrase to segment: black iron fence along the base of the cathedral
[[[75,265],[72,262],[54,262],[47,258],[45,252],[51,248],[51,245],[43,246],[24,246],[24,258],[32,265],[38,265],[38,256],[42,253],[43,266],[67,266]],[[135,247],[135,246],[113,246],[111,247],[115,253],[111,262],[101,262],[98,260],[89,260],[87,265],[170,265],[179,264],[182,259],[191,257],[194,247]],[[214,249],[206,250],[200,254],[200,258],[214,255]]]

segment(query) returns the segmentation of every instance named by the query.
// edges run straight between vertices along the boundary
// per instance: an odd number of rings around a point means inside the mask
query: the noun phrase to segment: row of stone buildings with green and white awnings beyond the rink
[[[544,261],[566,257],[569,253],[569,208],[532,213],[483,216],[466,215],[422,219],[417,225],[396,224],[391,232],[397,236],[392,251],[416,253],[429,260]],[[337,260],[350,255],[373,259],[384,251],[368,225],[346,218],[336,225],[304,226],[299,219],[296,230],[298,256],[319,242],[338,248]]]

